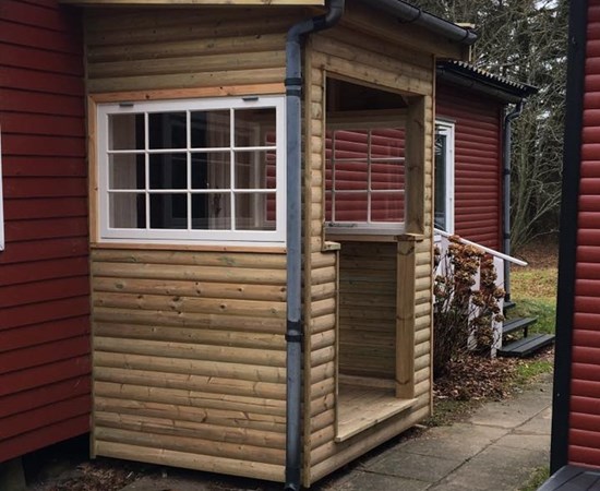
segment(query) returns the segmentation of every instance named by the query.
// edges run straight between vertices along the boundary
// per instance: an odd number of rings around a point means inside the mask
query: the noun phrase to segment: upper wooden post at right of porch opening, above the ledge
[[[406,231],[423,233],[425,218],[425,98],[412,97],[406,119]]]

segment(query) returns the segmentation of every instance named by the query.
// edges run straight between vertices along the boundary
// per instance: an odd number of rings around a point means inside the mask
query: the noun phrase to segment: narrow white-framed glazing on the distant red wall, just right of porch
[[[454,123],[435,121],[434,226],[454,233]]]

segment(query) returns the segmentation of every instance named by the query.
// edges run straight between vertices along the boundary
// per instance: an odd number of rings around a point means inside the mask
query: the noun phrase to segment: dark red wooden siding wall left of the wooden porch
[[[80,20],[0,1],[5,250],[0,462],[88,431],[89,279]]]

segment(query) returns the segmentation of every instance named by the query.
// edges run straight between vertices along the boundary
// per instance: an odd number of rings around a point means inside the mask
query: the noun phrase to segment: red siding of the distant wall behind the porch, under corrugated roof
[[[503,105],[437,84],[436,118],[455,123],[455,232],[501,250]]]

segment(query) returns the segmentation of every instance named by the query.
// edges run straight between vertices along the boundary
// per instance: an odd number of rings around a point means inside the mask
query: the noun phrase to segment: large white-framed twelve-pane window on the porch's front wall
[[[99,239],[285,243],[284,103],[99,104]]]

